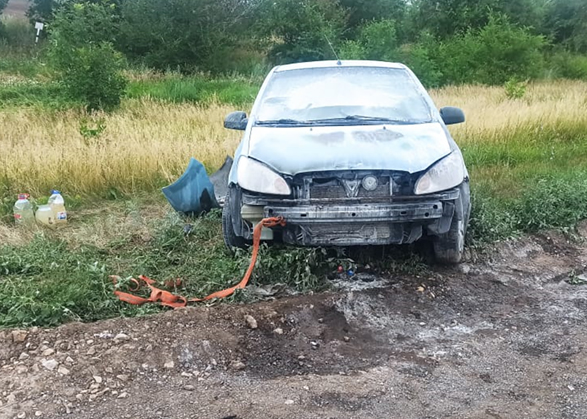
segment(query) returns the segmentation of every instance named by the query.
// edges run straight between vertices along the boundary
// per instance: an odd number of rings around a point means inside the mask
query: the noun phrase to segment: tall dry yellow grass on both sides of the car
[[[438,106],[465,110],[467,123],[451,128],[465,148],[502,144],[503,154],[507,142],[517,141],[512,133],[523,132],[527,135],[518,145],[525,151],[532,147],[533,130],[572,126],[580,133],[587,127],[585,82],[533,84],[520,100],[507,99],[503,88],[480,86],[448,87],[432,96]],[[89,138],[80,132],[88,117],[76,111],[3,110],[0,195],[43,196],[51,188],[96,196],[151,191],[176,179],[192,156],[217,168],[240,138],[222,125],[232,110],[219,104],[128,100],[116,113],[93,116],[86,125],[102,120],[105,130]],[[479,153],[471,158],[483,162],[493,156]]]

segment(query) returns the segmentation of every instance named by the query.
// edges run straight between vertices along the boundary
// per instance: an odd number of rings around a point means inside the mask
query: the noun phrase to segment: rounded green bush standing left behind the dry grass
[[[61,8],[51,27],[51,62],[70,97],[89,110],[118,107],[126,87],[125,60],[113,47],[114,10],[114,4],[75,3]]]

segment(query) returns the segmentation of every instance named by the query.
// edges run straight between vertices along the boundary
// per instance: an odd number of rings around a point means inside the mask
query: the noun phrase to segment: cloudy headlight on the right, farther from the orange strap
[[[459,150],[436,163],[418,181],[414,193],[425,195],[460,185],[465,179],[465,163]]]

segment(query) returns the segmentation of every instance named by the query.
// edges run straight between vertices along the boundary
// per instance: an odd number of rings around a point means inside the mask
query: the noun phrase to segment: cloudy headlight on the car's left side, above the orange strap
[[[262,163],[241,157],[237,169],[238,184],[252,192],[291,195],[291,188],[281,176]]]

